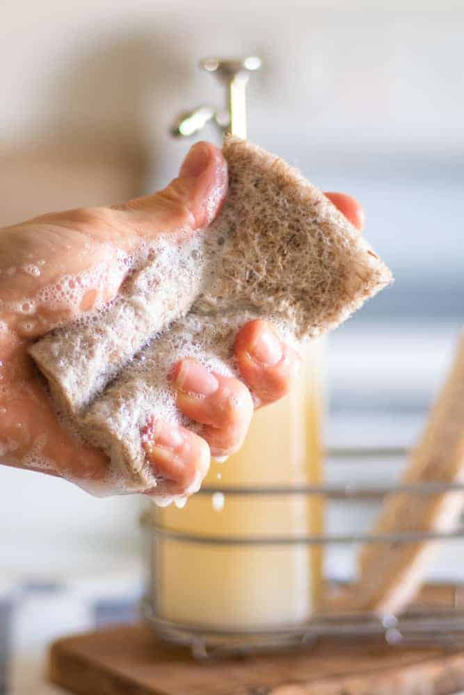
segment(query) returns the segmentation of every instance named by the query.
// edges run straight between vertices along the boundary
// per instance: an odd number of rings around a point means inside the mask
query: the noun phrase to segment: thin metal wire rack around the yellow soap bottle
[[[372,459],[404,459],[408,451],[400,447],[383,448],[330,448],[331,461],[340,459],[356,461],[366,466]],[[445,491],[464,492],[464,484],[426,482],[422,484],[323,484],[303,486],[256,487],[204,487],[198,494],[212,496],[221,492],[225,496],[317,496],[326,500],[353,500],[357,503],[380,502],[385,496],[407,493],[410,496],[433,496]],[[308,534],[287,537],[216,537],[177,532],[157,523],[149,514],[144,518],[150,534],[150,566],[154,566],[157,543],[163,539],[179,543],[198,543],[209,546],[321,546],[326,550],[333,546],[352,546],[358,543],[415,543],[417,541],[447,541],[464,538],[461,523],[452,532],[396,532],[372,534],[365,532]],[[391,646],[442,646],[456,647],[464,644],[464,587],[460,584],[429,584],[418,600],[400,615],[385,614],[314,614],[305,621],[291,626],[272,626],[266,630],[248,627],[218,630],[213,626],[171,623],[157,612],[157,586],[152,571],[150,586],[143,600],[145,620],[167,641],[190,646],[195,658],[211,659],[243,653],[250,650],[268,650],[297,646],[308,647],[318,639],[376,639]],[[333,589],[327,582],[325,588]],[[438,590],[441,589],[441,590]]]

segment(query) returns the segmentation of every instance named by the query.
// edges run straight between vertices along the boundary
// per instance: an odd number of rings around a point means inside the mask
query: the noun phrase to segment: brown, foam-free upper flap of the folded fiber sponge
[[[339,325],[390,270],[321,191],[281,158],[225,141],[230,190],[216,222],[225,245],[203,304],[253,306],[297,338]]]

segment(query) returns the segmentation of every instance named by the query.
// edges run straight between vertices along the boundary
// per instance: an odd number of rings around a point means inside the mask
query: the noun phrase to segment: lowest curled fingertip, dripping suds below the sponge
[[[189,496],[197,492],[208,472],[209,446],[198,434],[163,420],[154,420],[142,430],[145,457],[159,477],[154,498]]]

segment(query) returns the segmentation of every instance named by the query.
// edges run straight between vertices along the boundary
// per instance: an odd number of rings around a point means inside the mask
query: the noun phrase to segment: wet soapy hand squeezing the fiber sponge
[[[226,191],[221,151],[202,142],[187,155],[179,178],[159,193],[113,207],[43,215],[0,230],[1,463],[84,486],[105,479],[108,459],[62,427],[27,348],[56,326],[113,299],[125,275],[121,259],[161,233],[192,234],[205,226]],[[362,209],[353,198],[327,195],[362,227]],[[79,284],[83,273],[93,278],[85,290]],[[235,355],[246,385],[209,373],[193,359],[173,366],[179,409],[202,423],[202,436],[156,423],[145,452],[164,482],[147,493],[182,494],[197,471],[206,475],[211,453],[225,456],[240,447],[255,407],[289,391],[299,358],[269,323],[245,325]]]

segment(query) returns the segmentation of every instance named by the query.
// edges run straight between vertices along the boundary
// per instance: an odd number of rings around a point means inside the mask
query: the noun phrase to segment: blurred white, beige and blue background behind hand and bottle
[[[199,59],[262,57],[250,139],[358,197],[396,277],[330,338],[326,439],[413,442],[463,320],[462,3],[3,0],[0,15],[1,225],[164,185],[188,147],[170,138],[173,117],[223,99]],[[364,475],[350,466],[328,475]],[[137,591],[137,500],[7,468],[0,499],[5,591],[66,580],[81,595],[102,577]],[[334,559],[333,571],[348,569]]]

